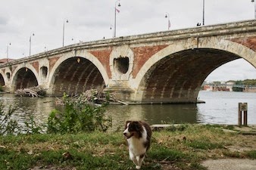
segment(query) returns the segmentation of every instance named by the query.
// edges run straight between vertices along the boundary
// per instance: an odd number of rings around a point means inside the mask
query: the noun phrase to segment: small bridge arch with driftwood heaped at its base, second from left
[[[11,77],[11,91],[39,85],[39,75],[30,63],[23,63],[15,68]]]

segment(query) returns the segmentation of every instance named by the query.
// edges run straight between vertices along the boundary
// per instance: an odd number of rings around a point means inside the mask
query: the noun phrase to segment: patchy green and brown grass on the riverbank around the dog
[[[231,146],[252,148],[256,144],[254,136],[226,133],[211,125],[182,127],[153,132],[142,169],[203,170],[200,162],[204,159],[256,159],[256,150],[229,150]],[[0,155],[0,169],[134,169],[121,131],[2,136]]]

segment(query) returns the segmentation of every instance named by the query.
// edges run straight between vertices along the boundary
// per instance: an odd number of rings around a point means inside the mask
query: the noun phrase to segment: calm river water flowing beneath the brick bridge
[[[33,115],[37,122],[47,122],[48,114],[56,107],[55,97],[14,97],[0,94],[5,105],[16,107],[15,116],[20,123]],[[200,91],[199,100],[205,104],[149,104],[110,105],[107,114],[112,116],[114,127],[122,126],[128,119],[160,123],[237,124],[238,103],[248,103],[248,125],[256,124],[256,93],[229,91]]]

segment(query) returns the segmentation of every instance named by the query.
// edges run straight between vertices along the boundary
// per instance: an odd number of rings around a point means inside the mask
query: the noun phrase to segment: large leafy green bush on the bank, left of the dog
[[[107,131],[112,119],[105,116],[108,102],[100,106],[89,104],[83,94],[76,99],[63,97],[64,110],[52,110],[48,117],[48,133],[78,133],[81,131]]]

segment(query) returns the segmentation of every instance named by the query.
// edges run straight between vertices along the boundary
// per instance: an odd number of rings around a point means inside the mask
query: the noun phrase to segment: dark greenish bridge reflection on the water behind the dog
[[[195,123],[198,109],[196,104],[151,104],[151,105],[111,105],[108,115],[114,125],[123,125],[126,120],[145,120],[150,124]]]

